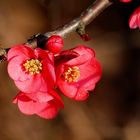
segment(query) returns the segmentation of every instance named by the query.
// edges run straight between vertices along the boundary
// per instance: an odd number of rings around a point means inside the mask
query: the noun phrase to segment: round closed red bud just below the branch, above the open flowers
[[[63,39],[58,35],[51,36],[45,44],[45,48],[51,51],[52,53],[59,53],[63,47]]]

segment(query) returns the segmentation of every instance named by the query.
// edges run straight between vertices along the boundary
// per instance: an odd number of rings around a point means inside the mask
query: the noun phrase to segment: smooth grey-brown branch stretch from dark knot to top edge
[[[91,23],[104,9],[112,3],[109,0],[96,0],[88,7],[79,18],[72,20],[70,23],[58,28],[55,31],[45,33],[45,36],[50,37],[53,34],[66,37],[69,33],[76,31],[78,26],[82,23],[84,26]]]

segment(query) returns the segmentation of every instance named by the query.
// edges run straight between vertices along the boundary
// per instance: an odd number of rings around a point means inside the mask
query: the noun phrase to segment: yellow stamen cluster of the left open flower
[[[42,71],[42,63],[38,59],[26,60],[23,66],[25,71],[31,75],[39,74]]]

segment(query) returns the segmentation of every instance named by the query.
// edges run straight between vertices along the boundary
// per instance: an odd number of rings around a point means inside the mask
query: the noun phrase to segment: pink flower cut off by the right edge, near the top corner
[[[140,28],[140,6],[130,16],[129,27],[131,29]]]

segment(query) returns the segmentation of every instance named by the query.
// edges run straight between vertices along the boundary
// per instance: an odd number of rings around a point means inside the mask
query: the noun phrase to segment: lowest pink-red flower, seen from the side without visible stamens
[[[35,95],[38,94],[38,97],[46,96],[46,100],[40,100],[35,97]],[[57,95],[55,91],[51,91],[50,94],[46,95],[44,93],[36,93],[34,96],[30,96],[30,94],[26,94],[23,92],[20,92],[14,99],[14,103],[18,105],[19,110],[26,114],[26,115],[33,115],[36,114],[42,118],[45,119],[52,119],[54,118],[60,108],[63,108],[63,102],[61,98]],[[42,96],[44,94],[44,96]]]

